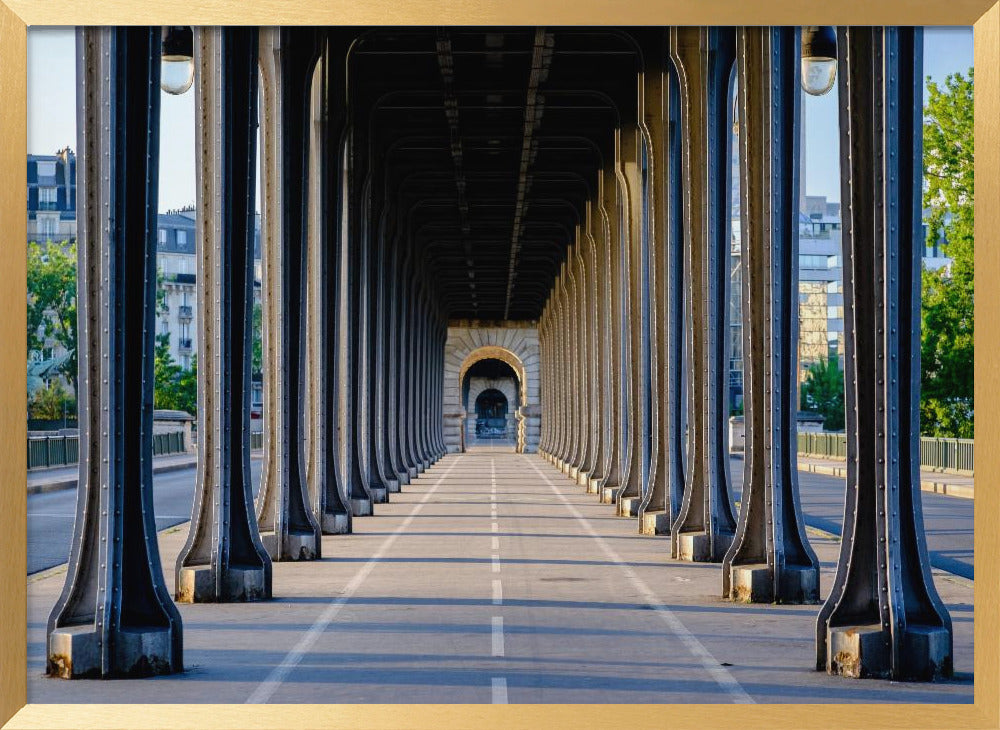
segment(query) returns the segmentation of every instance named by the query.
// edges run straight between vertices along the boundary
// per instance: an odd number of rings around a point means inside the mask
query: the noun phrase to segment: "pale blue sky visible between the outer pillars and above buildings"
[[[76,148],[75,42],[69,28],[28,30],[28,152]],[[938,82],[972,66],[972,28],[928,28],[924,75]],[[806,97],[806,193],[840,200],[837,90]],[[194,93],[163,94],[160,210],[194,202]]]

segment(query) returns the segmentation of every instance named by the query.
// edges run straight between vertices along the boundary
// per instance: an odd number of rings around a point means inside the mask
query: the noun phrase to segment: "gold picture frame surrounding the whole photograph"
[[[814,17],[815,16],[815,17]],[[1000,3],[842,0],[0,0],[0,724],[5,728],[276,727],[1000,727],[1000,449],[979,453],[975,509],[975,701],[972,705],[42,705],[27,701],[26,641],[26,74],[29,25],[974,25],[976,246],[979,278],[1000,281]],[[976,298],[979,432],[1000,429],[1000,288]]]

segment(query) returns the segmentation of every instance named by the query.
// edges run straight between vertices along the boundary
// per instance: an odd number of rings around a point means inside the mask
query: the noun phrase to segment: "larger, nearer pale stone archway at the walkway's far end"
[[[444,364],[444,434],[449,452],[464,449],[466,409],[462,383],[470,367],[481,360],[500,360],[517,375],[517,451],[538,450],[541,426],[539,404],[538,330],[534,323],[495,327],[448,328]]]

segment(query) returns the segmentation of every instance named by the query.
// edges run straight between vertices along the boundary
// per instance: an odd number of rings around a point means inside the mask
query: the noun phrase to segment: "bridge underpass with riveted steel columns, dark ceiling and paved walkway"
[[[798,29],[196,29],[199,463],[159,536],[160,30],[79,38],[80,487],[32,666],[168,676],[35,675],[32,701],[971,701],[972,588],[932,575],[915,450],[919,29],[838,30],[839,545],[795,468]],[[512,453],[465,441],[464,376],[494,359]]]

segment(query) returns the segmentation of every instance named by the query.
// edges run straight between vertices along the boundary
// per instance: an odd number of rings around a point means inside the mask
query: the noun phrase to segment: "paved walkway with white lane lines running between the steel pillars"
[[[973,589],[937,573],[958,679],[858,681],[812,669],[816,606],[719,598],[719,566],[537,456],[445,457],[322,561],[274,567],[267,603],[181,606],[186,671],[45,679],[64,570],[29,578],[29,702],[971,702]],[[186,537],[161,534],[172,566]],[[839,546],[812,537],[832,582]],[[173,584],[173,571],[167,583]]]

